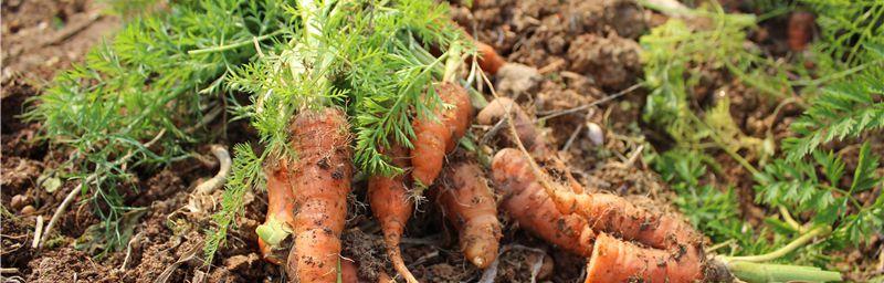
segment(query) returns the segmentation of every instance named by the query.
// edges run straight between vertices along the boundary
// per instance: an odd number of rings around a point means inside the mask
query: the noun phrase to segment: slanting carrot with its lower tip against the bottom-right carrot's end
[[[522,151],[505,148],[492,160],[495,189],[503,195],[501,207],[519,227],[565,251],[589,256],[596,233],[586,220],[564,214],[546,193]]]

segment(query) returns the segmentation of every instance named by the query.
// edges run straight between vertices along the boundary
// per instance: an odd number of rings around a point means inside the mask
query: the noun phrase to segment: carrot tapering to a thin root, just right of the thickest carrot
[[[409,167],[408,148],[393,146],[387,154],[389,154],[392,158],[392,164],[397,167]],[[413,211],[413,203],[409,199],[404,175],[392,177],[376,175],[369,177],[368,201],[371,206],[371,212],[375,213],[375,218],[380,222],[381,231],[383,231],[383,243],[387,245],[387,256],[390,258],[393,269],[399,274],[402,274],[402,277],[409,283],[418,282],[406,266],[402,261],[402,254],[399,251],[402,231]]]

